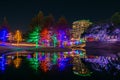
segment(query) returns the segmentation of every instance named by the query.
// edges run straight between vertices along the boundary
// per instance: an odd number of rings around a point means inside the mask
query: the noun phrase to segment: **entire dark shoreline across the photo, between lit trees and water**
[[[86,42],[85,47],[75,48],[75,49],[104,49],[104,50],[119,50],[120,42]],[[72,51],[72,48],[68,47],[23,47],[23,46],[0,46],[0,53],[12,52],[12,51],[32,51],[32,52],[65,52]]]

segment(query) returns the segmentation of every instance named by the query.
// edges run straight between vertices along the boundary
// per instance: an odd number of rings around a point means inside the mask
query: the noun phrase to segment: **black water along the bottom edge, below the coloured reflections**
[[[8,69],[4,74],[0,74],[0,80],[120,80],[120,74],[112,76],[105,72],[94,72],[89,77],[82,77],[74,75],[71,70],[63,72],[50,71],[44,73],[34,72],[28,69]]]

